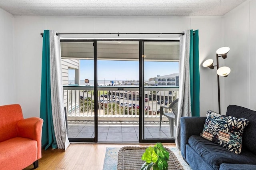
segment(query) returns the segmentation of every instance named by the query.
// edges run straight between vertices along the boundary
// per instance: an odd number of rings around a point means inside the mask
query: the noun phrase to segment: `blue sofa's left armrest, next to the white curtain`
[[[186,144],[191,135],[199,135],[204,128],[206,117],[181,117],[180,118],[180,152],[186,159]]]

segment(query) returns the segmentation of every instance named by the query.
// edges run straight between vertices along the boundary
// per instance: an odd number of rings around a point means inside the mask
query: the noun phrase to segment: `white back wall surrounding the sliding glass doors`
[[[29,17],[16,16],[14,29],[14,56],[16,57],[18,82],[18,103],[22,103],[26,117],[39,116],[41,58],[43,30],[56,30],[60,33],[81,32],[183,32],[186,29],[199,29],[200,62],[208,57],[215,57],[215,50],[221,47],[222,29],[218,26],[221,17]],[[92,36],[95,38],[95,36]],[[104,36],[104,38],[118,38]],[[145,38],[146,36],[121,36],[126,38]],[[163,37],[163,36],[162,36]],[[158,38],[158,37],[156,37]],[[220,41],[222,40],[222,41]],[[200,66],[200,69],[201,66]],[[209,109],[218,110],[218,95],[215,74],[209,69],[201,72],[200,115]],[[164,74],[164,73],[163,73]],[[211,78],[210,76],[214,77]],[[215,89],[214,89],[215,88]],[[208,97],[206,92],[212,92]],[[214,91],[216,91],[214,93]]]

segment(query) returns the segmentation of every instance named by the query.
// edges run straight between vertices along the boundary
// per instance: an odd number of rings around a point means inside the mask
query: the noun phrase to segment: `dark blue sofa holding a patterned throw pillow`
[[[249,120],[242,135],[241,154],[200,136],[206,117],[180,119],[180,151],[193,170],[256,170],[256,111],[229,105],[226,115]]]

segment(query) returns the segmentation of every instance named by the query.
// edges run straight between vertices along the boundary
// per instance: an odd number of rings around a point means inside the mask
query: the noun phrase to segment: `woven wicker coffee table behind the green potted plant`
[[[118,152],[117,170],[140,170],[145,161],[141,160],[142,154],[148,147],[126,146]],[[184,170],[175,154],[168,148],[168,170]]]

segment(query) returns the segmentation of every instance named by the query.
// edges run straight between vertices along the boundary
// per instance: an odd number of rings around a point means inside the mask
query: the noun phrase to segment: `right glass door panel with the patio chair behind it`
[[[162,116],[160,128],[160,112],[173,114],[168,107],[178,98],[179,42],[144,42],[143,57],[143,139],[170,141],[175,138],[175,122]]]

